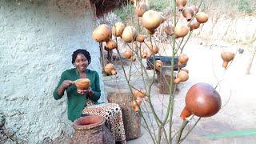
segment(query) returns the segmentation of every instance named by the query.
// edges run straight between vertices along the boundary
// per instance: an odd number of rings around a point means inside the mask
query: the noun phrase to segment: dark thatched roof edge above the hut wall
[[[103,14],[114,10],[126,4],[127,0],[90,0],[90,3],[96,8],[96,16],[101,17]]]

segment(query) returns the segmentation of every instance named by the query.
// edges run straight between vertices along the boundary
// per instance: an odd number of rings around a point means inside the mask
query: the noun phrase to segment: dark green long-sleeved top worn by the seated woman
[[[94,95],[90,97],[95,103],[98,103],[98,99],[101,96],[101,90],[99,85],[98,73],[94,70],[86,70],[86,77],[90,79],[90,88],[94,91]],[[54,90],[54,99],[58,100],[62,98],[58,95],[58,87],[61,86],[64,80],[75,81],[79,79],[79,73],[76,68],[65,70],[62,73],[61,79],[58,82],[58,86]],[[72,85],[66,89],[67,94],[67,115],[70,121],[80,118],[83,108],[86,106],[86,95],[78,94],[76,86]]]

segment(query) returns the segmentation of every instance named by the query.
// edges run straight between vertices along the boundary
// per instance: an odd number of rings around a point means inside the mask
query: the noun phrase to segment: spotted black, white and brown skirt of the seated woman
[[[110,128],[116,142],[126,143],[126,134],[122,122],[122,110],[118,104],[102,103],[94,105],[87,99],[86,107],[82,110],[82,114],[101,115],[106,118],[106,126]]]

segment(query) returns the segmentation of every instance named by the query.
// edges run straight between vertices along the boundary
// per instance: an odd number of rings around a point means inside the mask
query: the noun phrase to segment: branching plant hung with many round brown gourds
[[[142,78],[143,89],[132,84],[131,68],[127,72],[122,65],[122,72],[130,92],[134,95],[134,100],[130,103],[130,106],[141,115],[143,126],[149,132],[152,141],[154,143],[180,143],[190,134],[190,131],[193,130],[201,118],[210,117],[218,113],[221,108],[221,98],[215,90],[216,87],[206,83],[198,83],[191,86],[186,94],[186,106],[181,112],[182,125],[174,132],[174,94],[178,83],[186,82],[189,78],[188,70],[181,69],[189,60],[188,56],[182,54],[182,52],[192,32],[208,21],[208,15],[200,11],[202,0],[198,2],[198,6],[187,6],[187,0],[171,0],[171,15],[166,17],[155,10],[149,10],[147,2],[143,0],[132,1],[132,3],[135,6],[132,14],[135,13],[138,18],[137,28],[135,28],[136,26],[125,26],[122,22],[115,23],[112,28],[102,24],[94,30],[92,36],[96,42],[104,42],[106,50],[117,50],[119,57],[126,58],[131,63],[138,61],[140,66],[138,73]],[[154,76],[156,73],[162,74],[162,68],[165,65],[161,59],[154,58],[155,54],[160,55],[159,50],[161,50],[154,37],[159,31],[159,27],[165,33],[165,42],[171,46],[171,54],[169,54],[171,56],[169,64],[170,78],[161,77],[164,78],[164,82],[168,83],[170,95],[166,110],[162,110],[161,115],[157,113],[154,102],[151,100],[154,97],[152,95]],[[142,34],[142,30],[146,30],[147,36]],[[125,42],[128,47],[123,53],[120,52],[122,48],[118,47],[118,42],[120,41]],[[146,48],[143,48],[142,44]],[[120,59],[123,64],[122,58]],[[144,64],[148,58],[153,58],[153,62],[150,62],[150,66],[153,69],[153,79],[150,78]],[[178,63],[174,63],[174,58],[178,58]],[[225,61],[223,66],[226,68],[228,62],[233,60],[234,54],[223,52],[222,58]],[[177,74],[174,74],[174,66],[176,65],[178,66]],[[106,65],[104,70],[107,74],[117,74],[113,64]],[[164,106],[162,106],[162,109],[164,109]],[[150,114],[153,114],[154,121]],[[194,116],[198,116],[198,119],[195,122],[191,122],[190,120],[195,118]],[[182,136],[183,130],[188,123],[192,123],[192,126]],[[158,130],[155,130],[154,124]]]

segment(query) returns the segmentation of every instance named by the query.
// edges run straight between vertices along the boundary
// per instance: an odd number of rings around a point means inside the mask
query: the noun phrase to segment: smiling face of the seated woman
[[[86,56],[84,54],[78,54],[77,58],[74,60],[74,66],[76,66],[78,71],[85,71],[88,65]]]

